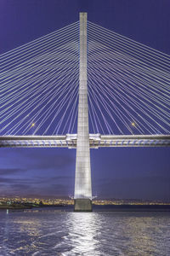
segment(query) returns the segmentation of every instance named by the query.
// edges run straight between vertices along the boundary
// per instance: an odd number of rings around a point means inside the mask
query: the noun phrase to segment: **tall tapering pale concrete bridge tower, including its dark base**
[[[87,13],[80,13],[79,65],[79,104],[74,210],[75,212],[91,212],[92,184],[88,130]]]

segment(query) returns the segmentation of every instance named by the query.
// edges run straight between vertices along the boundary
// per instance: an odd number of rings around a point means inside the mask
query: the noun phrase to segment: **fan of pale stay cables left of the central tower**
[[[1,55],[0,134],[76,131],[79,22]]]

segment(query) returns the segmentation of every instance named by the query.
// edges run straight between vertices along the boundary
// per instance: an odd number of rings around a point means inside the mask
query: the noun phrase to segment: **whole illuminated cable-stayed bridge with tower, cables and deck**
[[[77,148],[75,210],[91,210],[90,148],[170,146],[169,64],[81,13],[1,55],[0,147]]]

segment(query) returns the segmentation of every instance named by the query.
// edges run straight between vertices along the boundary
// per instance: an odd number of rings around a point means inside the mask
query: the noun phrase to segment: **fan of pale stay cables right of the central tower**
[[[88,21],[91,132],[169,134],[170,56]]]

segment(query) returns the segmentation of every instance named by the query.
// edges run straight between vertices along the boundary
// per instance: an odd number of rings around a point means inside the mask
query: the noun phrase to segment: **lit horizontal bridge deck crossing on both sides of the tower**
[[[89,135],[90,148],[166,147],[170,135]],[[77,148],[77,134],[62,136],[2,136],[0,148]]]

